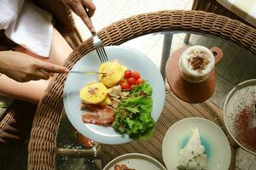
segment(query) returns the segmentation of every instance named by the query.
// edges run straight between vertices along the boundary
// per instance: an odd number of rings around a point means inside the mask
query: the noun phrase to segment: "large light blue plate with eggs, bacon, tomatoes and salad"
[[[108,46],[105,50],[108,62],[102,63],[94,50],[71,70],[98,74],[68,74],[63,103],[69,121],[79,133],[102,144],[124,144],[141,132],[152,135],[165,103],[165,84],[159,69],[132,48]]]

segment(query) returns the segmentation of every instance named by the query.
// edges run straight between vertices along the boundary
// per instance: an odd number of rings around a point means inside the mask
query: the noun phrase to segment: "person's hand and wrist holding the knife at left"
[[[47,80],[54,73],[67,73],[68,69],[20,52],[2,51],[0,52],[0,72],[17,82],[28,82]]]

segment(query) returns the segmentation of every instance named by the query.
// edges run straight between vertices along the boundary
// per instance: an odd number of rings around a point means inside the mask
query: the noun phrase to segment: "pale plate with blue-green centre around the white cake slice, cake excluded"
[[[166,132],[162,154],[168,170],[177,169],[177,156],[183,149],[192,128],[198,127],[201,144],[207,153],[207,170],[228,170],[230,167],[230,143],[224,132],[215,123],[200,117],[191,117],[176,122]]]

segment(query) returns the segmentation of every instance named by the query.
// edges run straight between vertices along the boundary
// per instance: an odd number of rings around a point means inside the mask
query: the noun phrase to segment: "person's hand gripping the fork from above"
[[[68,8],[71,8],[75,14],[79,15],[91,33],[96,32],[90,21],[90,17],[92,17],[96,10],[96,6],[91,0],[62,0],[62,2],[65,3]]]

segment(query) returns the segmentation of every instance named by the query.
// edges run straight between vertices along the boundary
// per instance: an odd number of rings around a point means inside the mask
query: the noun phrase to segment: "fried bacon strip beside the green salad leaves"
[[[94,107],[82,114],[82,120],[85,123],[106,126],[114,121],[114,111],[107,106]]]

